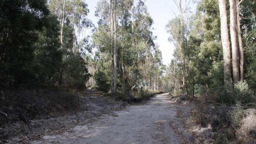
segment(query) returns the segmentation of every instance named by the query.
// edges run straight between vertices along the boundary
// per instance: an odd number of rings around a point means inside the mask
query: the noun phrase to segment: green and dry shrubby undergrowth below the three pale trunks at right
[[[248,108],[255,109],[256,100],[246,81],[234,84],[233,90],[215,86],[198,100],[193,119],[202,127],[211,125],[213,143],[248,143],[248,137],[240,132],[241,121]]]

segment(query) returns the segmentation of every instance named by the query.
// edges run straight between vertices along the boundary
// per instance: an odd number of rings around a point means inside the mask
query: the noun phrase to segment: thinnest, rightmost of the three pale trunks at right
[[[240,29],[240,15],[239,15],[239,0],[236,0],[236,7],[237,7],[237,33],[238,33],[238,42],[239,42],[239,50],[240,50],[240,80],[243,81],[243,42],[242,42],[242,35]]]

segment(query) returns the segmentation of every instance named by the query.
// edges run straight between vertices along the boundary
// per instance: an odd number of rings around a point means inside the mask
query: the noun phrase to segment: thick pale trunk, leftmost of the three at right
[[[223,48],[223,60],[224,60],[224,84],[227,88],[232,88],[231,82],[231,58],[230,58],[230,42],[227,27],[227,10],[226,1],[218,0],[221,18],[221,42]]]

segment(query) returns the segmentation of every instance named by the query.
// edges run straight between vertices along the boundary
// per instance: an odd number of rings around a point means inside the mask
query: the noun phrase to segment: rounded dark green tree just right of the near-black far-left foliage
[[[34,54],[34,72],[39,87],[54,86],[58,80],[57,70],[61,68],[63,51],[60,49],[59,22],[54,16],[47,17],[45,26],[39,32]]]

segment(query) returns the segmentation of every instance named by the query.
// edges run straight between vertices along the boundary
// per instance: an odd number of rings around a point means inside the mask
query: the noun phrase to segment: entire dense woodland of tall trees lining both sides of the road
[[[0,1],[1,95],[92,87],[115,97],[166,91],[255,106],[256,1],[173,2],[179,11],[166,32],[175,50],[163,65],[145,1],[100,0],[95,12],[84,0]]]

